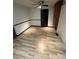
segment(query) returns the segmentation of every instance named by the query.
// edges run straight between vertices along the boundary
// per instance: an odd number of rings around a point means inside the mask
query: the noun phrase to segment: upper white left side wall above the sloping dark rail
[[[14,24],[29,20],[29,8],[14,3],[13,11]]]

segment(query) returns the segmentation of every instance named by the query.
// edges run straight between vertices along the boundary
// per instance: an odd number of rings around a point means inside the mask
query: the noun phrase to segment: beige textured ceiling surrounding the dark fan
[[[13,0],[13,1],[14,3],[33,8],[38,5],[32,5],[32,4],[36,4],[40,0]],[[54,5],[58,0],[44,0],[44,1],[47,1],[48,5]]]

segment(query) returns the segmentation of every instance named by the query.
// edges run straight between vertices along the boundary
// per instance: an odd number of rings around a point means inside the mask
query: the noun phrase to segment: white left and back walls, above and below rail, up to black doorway
[[[40,21],[40,9],[37,8],[28,8],[22,5],[13,4],[13,25],[31,20],[19,25],[14,26],[16,34],[19,35],[25,29],[30,27],[31,25],[38,25],[41,26]]]

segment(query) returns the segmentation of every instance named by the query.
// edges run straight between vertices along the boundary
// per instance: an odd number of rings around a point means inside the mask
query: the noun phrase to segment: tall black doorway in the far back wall
[[[48,9],[41,9],[41,27],[48,26]]]

